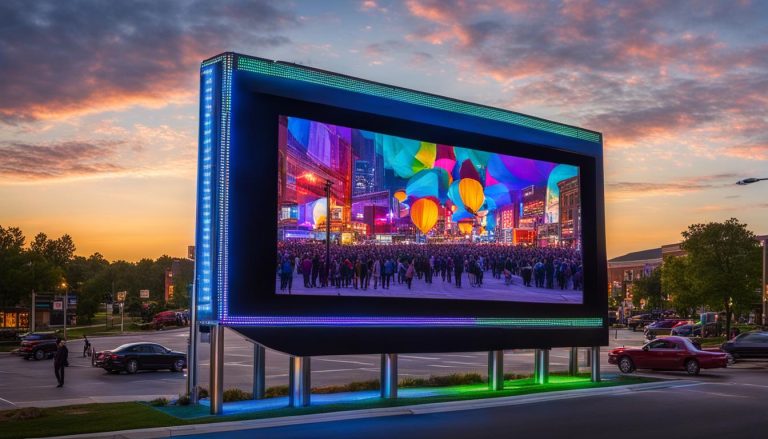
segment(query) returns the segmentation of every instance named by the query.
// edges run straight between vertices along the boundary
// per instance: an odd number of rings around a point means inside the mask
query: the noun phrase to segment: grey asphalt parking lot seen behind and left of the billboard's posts
[[[188,329],[172,329],[128,334],[112,337],[92,337],[96,350],[111,349],[123,343],[151,341],[174,350],[186,351]],[[611,332],[611,345],[639,345],[641,332],[620,330]],[[0,354],[0,409],[26,406],[57,406],[86,402],[113,402],[126,400],[150,400],[160,396],[175,397],[186,389],[186,372],[147,371],[135,375],[111,375],[102,369],[91,367],[89,358],[82,358],[82,341],[69,343],[70,367],[66,371],[63,388],[56,388],[52,360],[24,360],[10,354]],[[210,345],[200,344],[200,385],[208,387]],[[604,349],[607,351],[606,349]],[[602,367],[613,370],[607,364],[603,352]],[[401,377],[428,377],[458,372],[487,374],[486,352],[460,352],[441,354],[401,354]],[[225,331],[224,387],[250,390],[253,382],[253,344],[239,334]],[[581,363],[586,366],[585,352]],[[380,357],[376,355],[344,355],[312,358],[312,385],[346,384],[379,378]],[[568,351],[553,349],[550,370],[567,371]],[[586,369],[585,369],[586,370]],[[533,351],[507,351],[505,371],[527,374],[533,371]],[[267,351],[267,386],[288,383],[288,356]]]

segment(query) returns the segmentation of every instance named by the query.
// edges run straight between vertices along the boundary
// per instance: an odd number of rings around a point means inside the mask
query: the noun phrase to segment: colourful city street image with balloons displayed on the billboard
[[[583,302],[578,167],[289,116],[278,143],[277,294]]]

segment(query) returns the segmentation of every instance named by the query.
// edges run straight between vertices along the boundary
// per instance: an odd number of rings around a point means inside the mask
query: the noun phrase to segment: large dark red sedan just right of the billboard
[[[698,375],[701,369],[726,367],[728,356],[722,351],[702,351],[685,337],[663,337],[642,348],[616,348],[608,353],[608,362],[618,365],[623,373],[657,369]]]

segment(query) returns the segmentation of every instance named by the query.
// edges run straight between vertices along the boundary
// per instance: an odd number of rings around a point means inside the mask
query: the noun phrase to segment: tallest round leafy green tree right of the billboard
[[[693,224],[683,232],[691,286],[705,304],[725,311],[730,334],[734,307],[760,301],[760,246],[747,225],[731,218],[723,223]]]

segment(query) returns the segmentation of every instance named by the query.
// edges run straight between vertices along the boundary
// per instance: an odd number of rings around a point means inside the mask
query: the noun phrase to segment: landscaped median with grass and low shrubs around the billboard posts
[[[440,379],[431,379],[420,383],[440,381]],[[576,394],[583,393],[584,389],[636,385],[654,381],[658,380],[637,376],[612,375],[606,377],[603,381],[593,383],[590,381],[589,376],[586,375],[575,377],[552,375],[548,384],[535,384],[532,378],[510,379],[504,382],[504,390],[499,391],[488,390],[485,383],[442,387],[405,387],[400,389],[398,398],[393,400],[379,398],[378,391],[376,390],[313,393],[312,405],[309,407],[289,408],[287,407],[287,397],[276,396],[258,401],[225,403],[224,415],[222,416],[210,416],[209,409],[204,404],[182,406],[152,405],[149,402],[122,402],[44,409],[25,408],[0,411],[0,438],[43,437],[153,427],[187,426],[192,424],[282,418],[341,411],[354,413],[352,411],[367,410],[370,412],[371,409],[422,406],[424,404],[458,401],[469,403],[470,401],[542,394],[545,392],[572,391]],[[409,383],[404,382],[403,384],[408,385]],[[343,390],[346,387],[341,386],[338,390]],[[322,389],[317,390],[322,391]],[[502,400],[499,400],[499,402],[502,402]],[[436,407],[439,407],[439,404]],[[427,407],[424,408],[426,409]],[[456,408],[454,407],[454,409]],[[395,414],[405,414],[405,412]],[[372,413],[370,416],[377,415]],[[174,435],[177,434],[181,433],[174,432]]]

